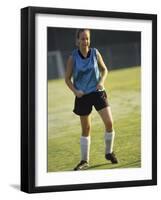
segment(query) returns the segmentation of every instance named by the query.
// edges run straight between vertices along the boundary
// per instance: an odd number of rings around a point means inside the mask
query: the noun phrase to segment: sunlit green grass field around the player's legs
[[[115,128],[119,164],[104,158],[104,125],[93,108],[90,167],[87,170],[141,167],[140,67],[110,71],[105,88]],[[48,81],[48,172],[70,171],[80,161],[79,116],[64,80]]]

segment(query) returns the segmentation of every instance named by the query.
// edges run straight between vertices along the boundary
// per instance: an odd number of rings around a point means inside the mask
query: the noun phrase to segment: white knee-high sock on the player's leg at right
[[[113,143],[114,143],[115,132],[105,132],[105,154],[113,152]]]

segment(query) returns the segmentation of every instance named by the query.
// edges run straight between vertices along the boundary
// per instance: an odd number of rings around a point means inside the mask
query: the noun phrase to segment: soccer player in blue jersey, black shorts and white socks
[[[111,108],[108,103],[104,82],[107,67],[96,48],[90,48],[90,30],[76,32],[76,45],[67,60],[65,82],[75,95],[73,112],[80,117],[82,133],[80,137],[81,159],[74,170],[89,166],[91,111],[94,106],[105,126],[105,158],[118,163],[113,152],[115,132]],[[73,81],[72,81],[73,77]]]

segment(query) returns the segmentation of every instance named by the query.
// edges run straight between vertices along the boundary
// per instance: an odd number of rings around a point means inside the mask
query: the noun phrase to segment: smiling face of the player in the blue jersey
[[[90,32],[87,31],[83,31],[79,34],[79,47],[80,48],[87,48],[90,46]]]

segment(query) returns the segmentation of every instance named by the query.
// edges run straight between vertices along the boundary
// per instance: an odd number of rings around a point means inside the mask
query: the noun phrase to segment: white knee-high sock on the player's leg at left
[[[81,136],[80,138],[80,148],[81,148],[81,160],[89,162],[89,152],[90,152],[91,137]]]

